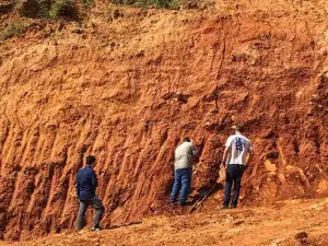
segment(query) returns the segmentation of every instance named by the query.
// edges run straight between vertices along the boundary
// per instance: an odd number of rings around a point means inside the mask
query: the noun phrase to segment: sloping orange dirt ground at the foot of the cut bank
[[[241,208],[144,218],[142,222],[101,232],[56,234],[12,246],[104,245],[328,245],[328,199],[289,200],[268,207]],[[187,210],[187,209],[186,209]]]

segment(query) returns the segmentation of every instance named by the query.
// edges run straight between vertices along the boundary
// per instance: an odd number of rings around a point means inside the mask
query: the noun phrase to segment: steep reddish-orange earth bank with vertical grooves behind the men
[[[28,20],[25,36],[3,42],[0,238],[74,230],[87,154],[104,226],[174,213],[177,143],[194,139],[194,187],[211,187],[236,122],[256,150],[242,207],[326,196],[327,4],[263,2],[161,11],[98,1],[82,26]]]

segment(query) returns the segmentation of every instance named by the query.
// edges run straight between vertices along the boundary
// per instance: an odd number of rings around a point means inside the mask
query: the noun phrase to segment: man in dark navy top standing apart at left
[[[85,212],[89,206],[96,209],[96,215],[92,231],[99,231],[99,222],[104,214],[104,206],[99,198],[95,195],[95,189],[98,186],[97,176],[93,169],[96,164],[95,156],[86,157],[86,165],[79,171],[77,176],[77,192],[80,201],[78,214],[78,227],[82,230],[84,226]]]

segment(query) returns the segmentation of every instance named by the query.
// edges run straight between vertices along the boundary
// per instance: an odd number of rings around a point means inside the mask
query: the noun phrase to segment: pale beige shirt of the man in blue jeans
[[[191,167],[194,164],[194,156],[196,155],[196,148],[191,142],[183,142],[174,152],[174,167],[175,169]]]

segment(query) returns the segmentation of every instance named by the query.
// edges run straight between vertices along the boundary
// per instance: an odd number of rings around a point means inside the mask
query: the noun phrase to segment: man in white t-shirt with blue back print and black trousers
[[[226,181],[224,189],[224,201],[222,209],[227,209],[231,201],[231,189],[233,189],[233,198],[231,208],[235,209],[238,203],[238,197],[241,191],[241,181],[244,171],[253,160],[254,151],[249,139],[242,134],[242,127],[236,126],[235,134],[229,137],[225,143],[225,150],[222,157],[221,168],[226,167]],[[246,162],[246,155],[249,153],[249,157]]]

